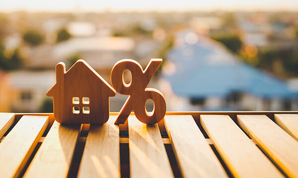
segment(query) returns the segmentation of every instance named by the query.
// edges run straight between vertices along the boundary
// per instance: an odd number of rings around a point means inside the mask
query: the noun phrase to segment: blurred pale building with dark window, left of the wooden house
[[[11,92],[9,111],[40,112],[46,92],[56,83],[56,75],[54,71],[18,71],[9,73],[7,80]],[[0,97],[6,95],[0,94]]]

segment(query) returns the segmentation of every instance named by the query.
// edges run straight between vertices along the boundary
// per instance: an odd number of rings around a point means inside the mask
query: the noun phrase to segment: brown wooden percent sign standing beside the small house
[[[132,111],[135,112],[139,121],[145,124],[155,124],[162,120],[166,112],[165,100],[162,93],[157,89],[146,88],[158,69],[162,59],[151,59],[145,71],[135,60],[123,59],[118,61],[111,72],[113,88],[120,94],[130,95],[115,124],[124,124]],[[126,84],[123,80],[125,70],[131,72],[131,82]],[[147,112],[146,102],[153,101],[153,111]]]

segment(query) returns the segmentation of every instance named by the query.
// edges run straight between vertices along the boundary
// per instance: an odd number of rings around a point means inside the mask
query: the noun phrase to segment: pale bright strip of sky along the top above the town
[[[0,11],[291,10],[298,0],[0,0]]]

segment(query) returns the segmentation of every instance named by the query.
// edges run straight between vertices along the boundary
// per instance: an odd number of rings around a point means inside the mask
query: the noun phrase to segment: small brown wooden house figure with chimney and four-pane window
[[[109,119],[109,97],[116,91],[84,60],[66,72],[56,65],[56,84],[47,92],[54,103],[55,120],[62,124],[103,124]]]

